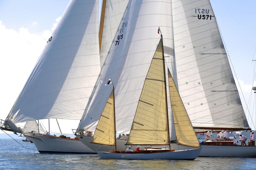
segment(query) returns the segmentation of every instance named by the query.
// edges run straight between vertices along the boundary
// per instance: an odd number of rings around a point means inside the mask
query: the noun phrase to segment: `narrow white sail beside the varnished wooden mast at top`
[[[129,0],[104,0],[106,1],[105,13],[101,14],[104,18],[103,36],[100,53],[100,63],[103,65],[105,58],[109,52],[109,48],[115,37],[116,30],[123,17],[125,8]],[[104,8],[104,7],[103,7]],[[103,10],[102,10],[103,11]]]

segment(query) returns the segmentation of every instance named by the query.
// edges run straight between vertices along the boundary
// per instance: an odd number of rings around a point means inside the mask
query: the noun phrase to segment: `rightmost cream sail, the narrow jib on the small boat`
[[[173,77],[168,69],[170,101],[173,113],[177,142],[191,147],[201,147],[196,133],[189,120],[187,111],[174,84]]]

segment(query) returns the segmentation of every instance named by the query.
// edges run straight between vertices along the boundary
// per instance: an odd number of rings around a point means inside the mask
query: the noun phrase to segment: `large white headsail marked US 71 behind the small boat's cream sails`
[[[105,83],[111,79],[115,87],[116,132],[129,133],[159,42],[158,27],[164,36],[164,55],[169,56],[167,66],[174,69],[171,5],[170,1],[129,1],[79,130],[95,130],[112,90]]]

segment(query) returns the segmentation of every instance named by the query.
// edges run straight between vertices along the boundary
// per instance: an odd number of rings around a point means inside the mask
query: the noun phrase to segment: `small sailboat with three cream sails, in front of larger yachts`
[[[165,78],[165,62],[163,52],[162,34],[161,40],[157,46],[155,54],[152,58],[144,85],[141,91],[141,96],[137,105],[136,113],[133,119],[130,135],[126,145],[164,145],[165,148],[148,147],[143,151],[126,152],[124,151],[109,151],[97,152],[101,158],[110,159],[189,159],[194,160],[201,148],[197,140],[196,134],[189,121],[184,106],[178,94],[172,76],[168,70],[169,87],[171,97],[171,105],[175,107],[174,112],[180,111],[175,117],[178,124],[177,132],[185,133],[188,144],[193,146],[197,142],[197,149],[178,150],[170,148],[169,137],[169,119],[167,108],[167,90]],[[176,90],[175,90],[176,89]],[[111,102],[112,101],[112,102]],[[106,102],[106,106],[101,114],[99,123],[96,127],[92,143],[103,145],[115,145],[115,100],[114,88]],[[176,110],[178,109],[178,110]],[[184,114],[185,112],[185,114]],[[108,113],[108,114],[106,114]],[[106,125],[109,125],[106,126]],[[109,128],[109,129],[108,129]],[[190,130],[190,131],[189,131]],[[189,135],[190,134],[190,135]],[[184,139],[184,136],[179,136]],[[189,136],[189,137],[188,137]],[[194,140],[193,140],[194,139]],[[182,141],[182,140],[181,140]],[[167,147],[166,147],[167,146]]]

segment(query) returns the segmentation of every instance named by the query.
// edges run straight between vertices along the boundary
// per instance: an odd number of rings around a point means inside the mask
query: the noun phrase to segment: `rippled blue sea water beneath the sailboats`
[[[27,148],[33,143],[16,139]],[[187,160],[104,160],[97,154],[40,154],[13,139],[0,140],[0,169],[256,169],[256,158],[198,157]]]

